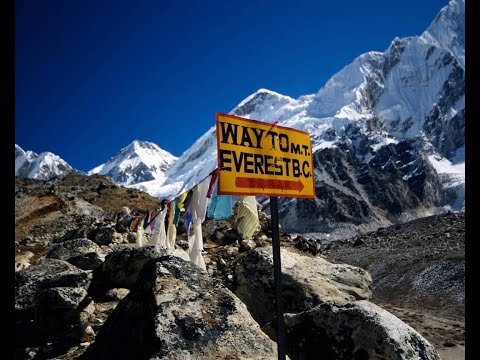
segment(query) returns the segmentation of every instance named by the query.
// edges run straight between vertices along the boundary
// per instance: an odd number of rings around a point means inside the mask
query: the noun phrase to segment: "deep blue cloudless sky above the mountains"
[[[15,0],[15,142],[87,171],[135,139],[180,156],[259,88],[297,98],[446,0]]]

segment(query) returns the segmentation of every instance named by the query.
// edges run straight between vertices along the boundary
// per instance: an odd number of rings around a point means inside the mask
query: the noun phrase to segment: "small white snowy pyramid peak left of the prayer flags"
[[[176,160],[176,156],[154,143],[135,140],[106,163],[90,170],[88,175],[105,175],[121,186],[161,181]]]

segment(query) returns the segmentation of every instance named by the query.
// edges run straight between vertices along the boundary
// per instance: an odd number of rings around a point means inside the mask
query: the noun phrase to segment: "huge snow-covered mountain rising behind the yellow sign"
[[[452,0],[423,34],[360,55],[316,94],[260,89],[230,112],[311,135],[316,198],[281,199],[284,229],[341,235],[464,208],[464,39],[465,1]],[[216,168],[216,152],[212,127],[164,179],[136,187],[174,198]]]

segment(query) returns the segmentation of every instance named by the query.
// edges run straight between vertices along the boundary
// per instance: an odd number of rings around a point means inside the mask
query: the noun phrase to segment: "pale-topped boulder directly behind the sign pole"
[[[309,257],[280,250],[285,312],[298,313],[324,302],[337,304],[369,299],[370,274],[355,266],[334,264],[321,256]],[[235,294],[261,326],[275,314],[271,247],[256,248],[235,269]]]

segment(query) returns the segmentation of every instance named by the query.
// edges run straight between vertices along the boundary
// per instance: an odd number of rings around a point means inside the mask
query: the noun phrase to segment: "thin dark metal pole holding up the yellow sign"
[[[270,196],[270,214],[272,220],[273,277],[275,282],[278,360],[285,360],[285,323],[283,321],[282,264],[280,260],[280,235],[278,230],[278,198],[275,196]]]

